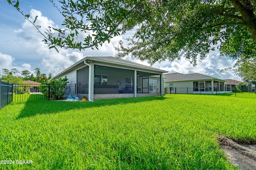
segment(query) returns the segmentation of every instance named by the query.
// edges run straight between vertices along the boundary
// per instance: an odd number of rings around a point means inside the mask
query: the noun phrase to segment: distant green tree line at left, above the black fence
[[[35,68],[34,73],[31,73],[29,70],[22,70],[21,72],[16,68],[8,70],[7,68],[2,68],[0,70],[0,79],[5,82],[10,82],[13,84],[23,84],[25,80],[32,80],[34,82],[39,82],[40,78],[44,76],[48,80],[52,78],[52,73],[48,74],[48,77],[45,73],[40,71],[40,68]],[[20,74],[18,74],[20,73]]]

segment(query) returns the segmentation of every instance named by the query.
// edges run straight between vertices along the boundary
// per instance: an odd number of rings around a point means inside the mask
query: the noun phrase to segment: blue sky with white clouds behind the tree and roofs
[[[63,16],[52,6],[48,0],[20,0],[20,9],[24,14],[30,14],[35,17],[38,15],[36,24],[42,26],[42,32],[48,26],[62,28]],[[132,34],[129,32],[127,34]],[[86,49],[85,51],[58,49],[48,49],[48,46],[42,42],[43,37],[34,26],[12,6],[7,0],[0,0],[0,70],[2,68],[17,68],[18,70],[30,70],[34,72],[35,68],[40,68],[43,73],[58,74],[65,68],[68,68],[76,61],[85,56],[114,56],[114,45],[117,45],[122,36],[114,37],[112,43],[104,43],[99,50]],[[146,61],[142,62],[133,57],[124,59],[140,64],[148,65]],[[183,74],[198,72],[222,79],[241,80],[232,70],[220,72],[218,69],[224,69],[232,66],[235,61],[221,57],[219,51],[211,51],[202,62],[196,67],[190,65],[190,61],[182,58],[172,63],[164,61],[153,65],[169,72],[180,72]]]

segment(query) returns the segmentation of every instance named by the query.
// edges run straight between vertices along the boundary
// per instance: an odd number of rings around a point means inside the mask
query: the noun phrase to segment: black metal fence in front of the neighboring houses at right
[[[190,88],[190,87],[165,87],[164,94],[208,94],[217,96],[231,96],[231,97],[244,97],[256,98],[254,89],[248,91],[247,89],[239,90],[225,90],[224,88]]]

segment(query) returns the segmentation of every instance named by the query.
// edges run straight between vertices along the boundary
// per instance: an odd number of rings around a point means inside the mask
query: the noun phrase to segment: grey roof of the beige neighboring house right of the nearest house
[[[215,78],[215,77],[212,77],[212,76],[206,76],[204,74],[199,74],[199,73],[182,74],[182,73],[179,73],[179,72],[164,74],[163,78],[165,78],[164,82],[211,80],[211,79],[225,81],[225,80],[222,80],[220,78]]]

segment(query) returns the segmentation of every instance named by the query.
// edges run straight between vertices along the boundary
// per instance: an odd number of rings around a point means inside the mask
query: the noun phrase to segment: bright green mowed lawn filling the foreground
[[[256,99],[166,95],[41,101],[0,111],[0,169],[238,169],[219,135],[253,142]]]

